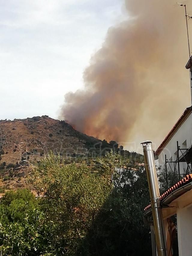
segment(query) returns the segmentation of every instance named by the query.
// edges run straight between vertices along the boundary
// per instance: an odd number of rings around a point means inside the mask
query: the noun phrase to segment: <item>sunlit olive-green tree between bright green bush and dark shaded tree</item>
[[[32,183],[45,196],[52,243],[59,255],[74,255],[113,187],[105,174],[95,173],[83,164],[65,165],[60,156],[51,154],[43,165],[44,171],[37,169]]]

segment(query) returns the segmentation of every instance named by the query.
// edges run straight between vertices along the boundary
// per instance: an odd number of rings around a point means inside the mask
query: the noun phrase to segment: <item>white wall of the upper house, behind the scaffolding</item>
[[[180,148],[190,148],[192,144],[192,113],[187,117],[187,119],[182,123],[170,141],[167,143],[165,148],[159,154],[159,167],[161,170],[165,168],[165,154],[167,155],[167,159],[175,161],[177,157],[177,141],[179,142]],[[186,141],[186,145],[185,145]],[[184,153],[184,151],[182,151]],[[179,154],[181,156],[181,152]],[[167,164],[168,168],[169,164]],[[183,169],[187,168],[186,163],[180,163],[180,173],[183,173]],[[173,169],[173,163],[172,163]],[[178,169],[178,168],[176,168]]]

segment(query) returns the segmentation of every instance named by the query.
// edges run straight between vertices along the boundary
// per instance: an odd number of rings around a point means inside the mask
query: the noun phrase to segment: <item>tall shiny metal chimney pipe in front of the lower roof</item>
[[[167,256],[165,230],[163,223],[162,208],[160,205],[160,192],[158,185],[158,178],[155,168],[155,159],[152,148],[152,142],[146,141],[141,143],[143,145],[143,153],[146,164],[147,179],[149,185],[149,194],[151,199],[153,223],[155,229],[155,240],[157,246],[158,256]]]

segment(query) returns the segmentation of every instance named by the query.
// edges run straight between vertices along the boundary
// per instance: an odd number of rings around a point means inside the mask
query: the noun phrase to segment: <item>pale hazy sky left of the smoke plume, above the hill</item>
[[[0,0],[0,119],[57,118],[122,0]]]

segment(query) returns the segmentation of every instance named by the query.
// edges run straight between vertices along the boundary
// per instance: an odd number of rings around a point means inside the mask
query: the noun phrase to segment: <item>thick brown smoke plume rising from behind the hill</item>
[[[128,19],[108,30],[85,69],[84,90],[65,95],[62,119],[99,139],[158,146],[190,105],[184,7],[175,4],[125,1]]]

